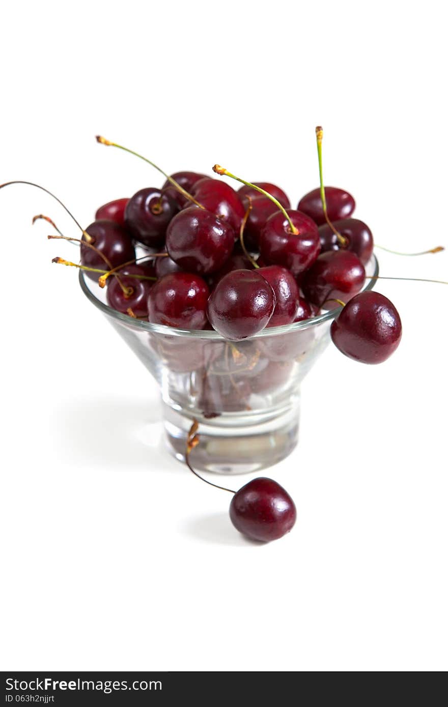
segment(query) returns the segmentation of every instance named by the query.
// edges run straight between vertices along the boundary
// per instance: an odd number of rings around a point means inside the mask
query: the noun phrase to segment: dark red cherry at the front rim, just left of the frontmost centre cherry
[[[178,329],[203,329],[207,324],[208,296],[208,285],[199,275],[165,275],[149,293],[149,321]]]

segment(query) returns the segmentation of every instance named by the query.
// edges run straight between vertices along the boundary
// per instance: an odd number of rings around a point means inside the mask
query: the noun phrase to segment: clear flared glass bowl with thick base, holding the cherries
[[[377,276],[372,256],[366,274]],[[226,341],[214,331],[184,331],[132,319],[110,308],[105,289],[79,272],[81,289],[159,383],[168,449],[184,459],[193,419],[200,423],[197,469],[254,472],[297,445],[300,384],[330,341],[340,308],[251,339]],[[367,279],[364,290],[374,286]]]

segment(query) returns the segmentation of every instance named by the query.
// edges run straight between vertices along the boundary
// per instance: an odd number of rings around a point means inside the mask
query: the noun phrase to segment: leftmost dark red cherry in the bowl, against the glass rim
[[[93,238],[91,245],[103,253],[113,268],[134,259],[135,250],[132,238],[115,221],[106,221],[105,219],[93,221],[86,231]],[[82,240],[85,240],[84,235]],[[103,258],[84,243],[81,243],[81,264],[100,270],[110,270]],[[92,280],[98,280],[100,276],[99,273],[88,271],[86,271],[86,275]]]

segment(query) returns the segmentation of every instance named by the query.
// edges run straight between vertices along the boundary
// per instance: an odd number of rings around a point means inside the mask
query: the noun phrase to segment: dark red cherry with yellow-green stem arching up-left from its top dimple
[[[294,276],[311,267],[321,250],[316,223],[300,211],[288,209],[289,218],[299,230],[291,233],[287,218],[281,211],[272,214],[260,233],[260,253],[270,265],[282,265]]]

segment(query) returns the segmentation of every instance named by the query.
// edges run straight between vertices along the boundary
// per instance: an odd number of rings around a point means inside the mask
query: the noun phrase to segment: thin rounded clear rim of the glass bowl
[[[364,284],[364,287],[362,288],[362,290],[360,290],[360,292],[368,292],[372,290],[374,288],[374,284],[376,283],[375,278],[377,278],[379,274],[379,262],[377,256],[374,255],[374,253],[372,253],[371,258],[369,259],[369,263],[371,262],[373,262],[374,264],[374,274],[372,276],[368,276],[369,279],[367,281],[367,284]],[[221,334],[218,334],[218,332],[215,332],[213,329],[176,329],[175,327],[167,327],[166,325],[162,324],[151,324],[150,322],[144,322],[139,319],[134,319],[133,317],[130,317],[127,314],[122,314],[122,312],[118,312],[112,307],[109,307],[109,305],[105,304],[104,302],[101,302],[101,300],[99,300],[93,294],[91,289],[88,288],[86,284],[86,275],[82,270],[79,271],[79,284],[81,285],[81,290],[86,295],[86,298],[90,300],[91,303],[95,305],[101,312],[103,312],[104,315],[106,315],[107,317],[111,317],[112,319],[115,319],[118,322],[121,322],[127,327],[132,325],[132,328],[140,329],[143,332],[165,334],[166,336],[170,337],[186,337],[190,339],[213,339],[214,341],[226,341],[225,337],[222,337]],[[325,314],[320,314],[317,317],[311,317],[310,319],[304,319],[301,320],[301,322],[285,324],[282,327],[265,328],[262,329],[261,332],[258,332],[258,334],[254,334],[253,337],[248,337],[248,339],[258,339],[260,337],[275,337],[279,334],[287,334],[288,332],[297,332],[300,329],[308,329],[309,327],[314,327],[319,324],[322,324],[323,322],[327,322],[334,319],[339,314],[340,310],[342,310],[342,307],[336,307],[333,310],[325,312]]]

